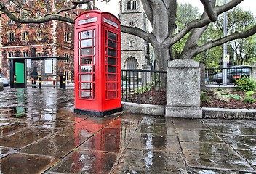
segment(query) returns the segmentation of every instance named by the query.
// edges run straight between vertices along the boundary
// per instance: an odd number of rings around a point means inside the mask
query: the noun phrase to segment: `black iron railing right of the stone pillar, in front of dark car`
[[[239,66],[228,68],[206,68],[205,83],[206,84],[223,84],[223,73],[226,72],[227,84],[235,84],[236,80],[242,77],[250,77],[251,67]]]

